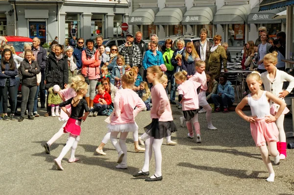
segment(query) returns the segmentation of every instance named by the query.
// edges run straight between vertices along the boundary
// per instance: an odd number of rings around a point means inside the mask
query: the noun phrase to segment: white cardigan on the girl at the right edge
[[[264,72],[261,74],[261,80],[264,84],[265,90],[272,93],[276,97],[279,97],[279,93],[283,91],[283,82],[290,82],[288,88],[286,89],[286,91],[288,91],[289,93],[291,93],[294,87],[294,77],[278,69],[276,69],[276,76],[272,82],[270,81],[268,72]],[[283,99],[283,101],[285,100]],[[273,103],[274,102],[270,101],[270,106]]]

